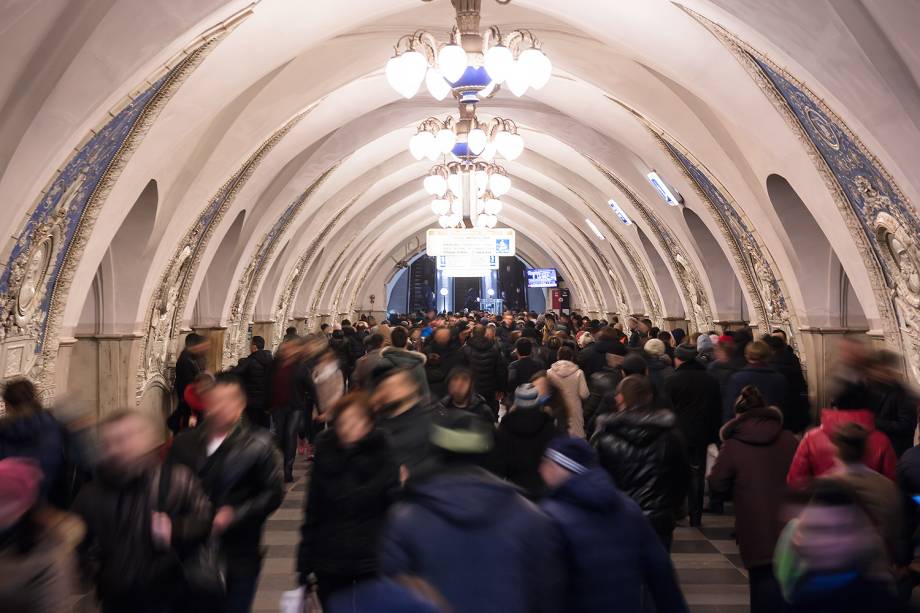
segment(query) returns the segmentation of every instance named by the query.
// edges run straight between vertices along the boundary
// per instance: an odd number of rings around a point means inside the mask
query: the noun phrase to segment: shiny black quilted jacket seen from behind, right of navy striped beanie
[[[676,521],[687,497],[690,464],[674,413],[630,409],[598,426],[593,443],[617,487],[647,517]]]

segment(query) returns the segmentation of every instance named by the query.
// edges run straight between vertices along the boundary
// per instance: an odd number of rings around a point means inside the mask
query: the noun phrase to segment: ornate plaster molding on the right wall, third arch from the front
[[[631,187],[626,185],[619,177],[614,175],[610,170],[604,167],[603,164],[591,156],[585,155],[585,158],[590,161],[601,174],[607,177],[608,181],[613,183],[614,186],[626,195],[636,210],[639,211],[639,214],[642,216],[642,219],[645,220],[648,228],[658,239],[658,243],[667,255],[668,261],[671,264],[671,269],[678,279],[678,287],[680,288],[684,301],[685,318],[698,332],[712,330],[715,325],[713,324],[712,308],[709,306],[709,297],[706,294],[706,289],[699,272],[697,272],[684,246],[677,237],[671,233],[667,224],[659,219],[645,203],[639,200]]]

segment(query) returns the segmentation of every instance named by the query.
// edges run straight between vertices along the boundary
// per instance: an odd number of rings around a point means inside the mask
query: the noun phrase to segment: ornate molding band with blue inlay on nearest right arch
[[[805,147],[866,267],[886,339],[920,381],[920,220],[891,174],[811,88],[685,6],[735,56]]]

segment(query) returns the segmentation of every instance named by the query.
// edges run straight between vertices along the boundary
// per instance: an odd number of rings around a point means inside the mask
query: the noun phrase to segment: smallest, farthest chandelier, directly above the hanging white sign
[[[469,217],[475,227],[494,228],[502,210],[499,198],[511,189],[511,179],[493,162],[454,161],[432,167],[424,186],[434,197],[431,210],[442,228],[461,226],[464,202],[470,203]]]

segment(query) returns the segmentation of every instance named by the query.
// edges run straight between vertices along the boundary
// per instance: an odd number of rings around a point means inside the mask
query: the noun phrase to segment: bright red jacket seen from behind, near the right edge
[[[824,409],[821,411],[821,425],[806,432],[799,444],[786,476],[789,487],[804,488],[813,479],[834,468],[837,449],[831,441],[831,435],[841,424],[849,422],[857,423],[869,431],[866,457],[863,460],[866,466],[889,479],[895,478],[897,456],[888,437],[875,429],[875,418],[871,411]]]

